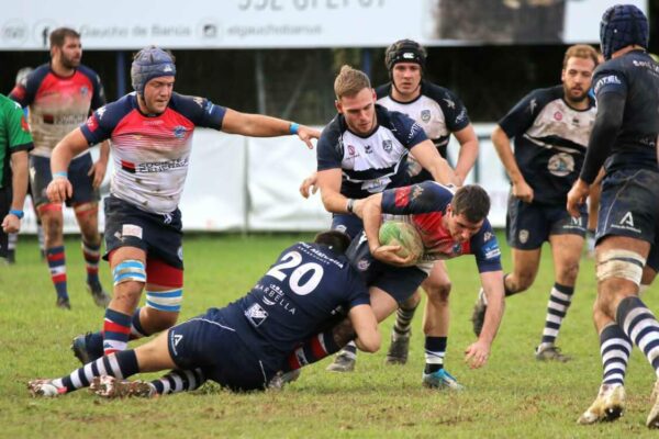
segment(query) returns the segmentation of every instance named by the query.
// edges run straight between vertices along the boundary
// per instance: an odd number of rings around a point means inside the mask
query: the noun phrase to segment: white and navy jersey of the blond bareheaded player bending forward
[[[350,132],[338,114],[319,140],[317,170],[342,169],[340,193],[347,198],[364,199],[407,184],[407,153],[427,139],[421,125],[402,113],[376,105],[376,130],[362,137]]]

